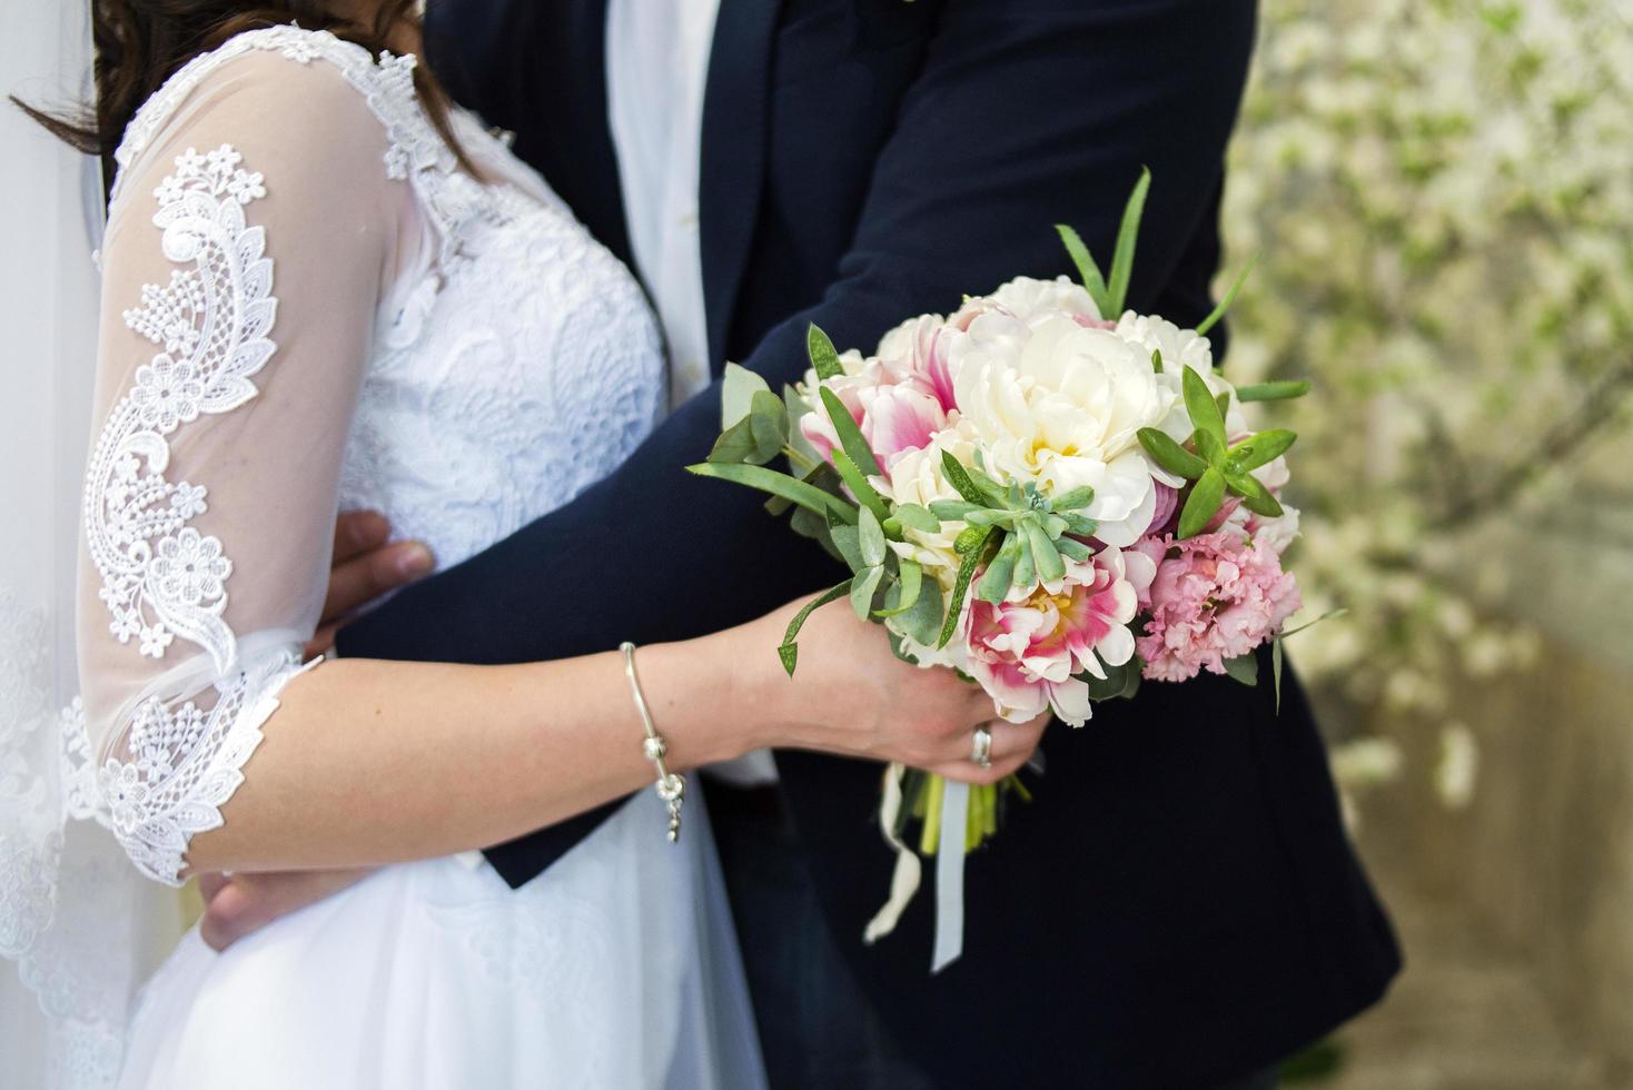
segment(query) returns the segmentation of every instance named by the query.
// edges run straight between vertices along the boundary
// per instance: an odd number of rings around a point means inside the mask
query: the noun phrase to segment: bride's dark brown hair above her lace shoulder
[[[392,33],[416,18],[418,0],[382,0],[374,18],[356,21],[335,15],[325,0],[67,0],[91,5],[96,39],[96,103],[80,113],[51,113],[11,98],[28,116],[88,155],[100,155],[106,176],[124,129],[165,80],[199,54],[234,34],[299,23],[325,29],[371,54],[389,47]],[[426,65],[415,69],[415,85],[431,124],[467,170],[447,122],[449,101]]]

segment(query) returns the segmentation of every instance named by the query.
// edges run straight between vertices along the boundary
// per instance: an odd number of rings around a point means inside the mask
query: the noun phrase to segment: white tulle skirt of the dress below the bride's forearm
[[[764,1085],[701,798],[643,791],[509,889],[469,857],[389,866],[149,982],[127,1090]]]

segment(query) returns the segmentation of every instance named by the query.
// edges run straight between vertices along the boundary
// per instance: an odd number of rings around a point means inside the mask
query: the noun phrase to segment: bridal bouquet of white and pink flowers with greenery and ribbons
[[[1215,370],[1207,331],[1246,272],[1195,330],[1124,310],[1148,186],[1135,186],[1107,274],[1060,227],[1081,282],[1017,277],[949,317],[903,321],[870,356],[812,326],[812,369],[781,397],[728,369],[725,432],[691,470],[771,493],[774,514],[792,512],[851,569],[789,625],[790,674],[805,618],[849,599],[897,654],[960,671],[1017,723],[1053,710],[1081,726],[1092,702],[1132,697],[1141,679],[1256,684],[1264,643],[1280,682],[1279,635],[1300,604],[1280,561],[1298,529],[1279,499],[1295,436],[1254,432],[1244,405],[1308,385],[1238,388]],[[870,938],[918,886],[908,824],[919,821],[919,852],[946,857],[950,842],[962,862],[1009,791],[1026,788],[1011,777],[965,798],[963,785],[890,770],[882,818],[898,873]],[[959,906],[944,888],[944,925]]]

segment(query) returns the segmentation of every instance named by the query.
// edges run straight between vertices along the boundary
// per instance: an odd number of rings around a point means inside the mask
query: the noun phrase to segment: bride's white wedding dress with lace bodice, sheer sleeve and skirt
[[[176,881],[278,729],[336,507],[384,511],[452,565],[660,414],[632,276],[474,117],[454,127],[485,184],[421,111],[412,57],[278,28],[186,65],[119,150],[82,804],[155,880]],[[443,858],[224,955],[193,932],[139,1002],[119,1085],[761,1085],[705,816],[687,809],[679,847],[663,832],[643,791],[518,891]]]

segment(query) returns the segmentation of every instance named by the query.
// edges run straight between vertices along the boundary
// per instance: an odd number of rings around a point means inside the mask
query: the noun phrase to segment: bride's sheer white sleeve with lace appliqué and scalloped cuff
[[[178,883],[317,623],[405,204],[333,69],[245,55],[139,121],[103,248],[80,680],[98,816]]]

